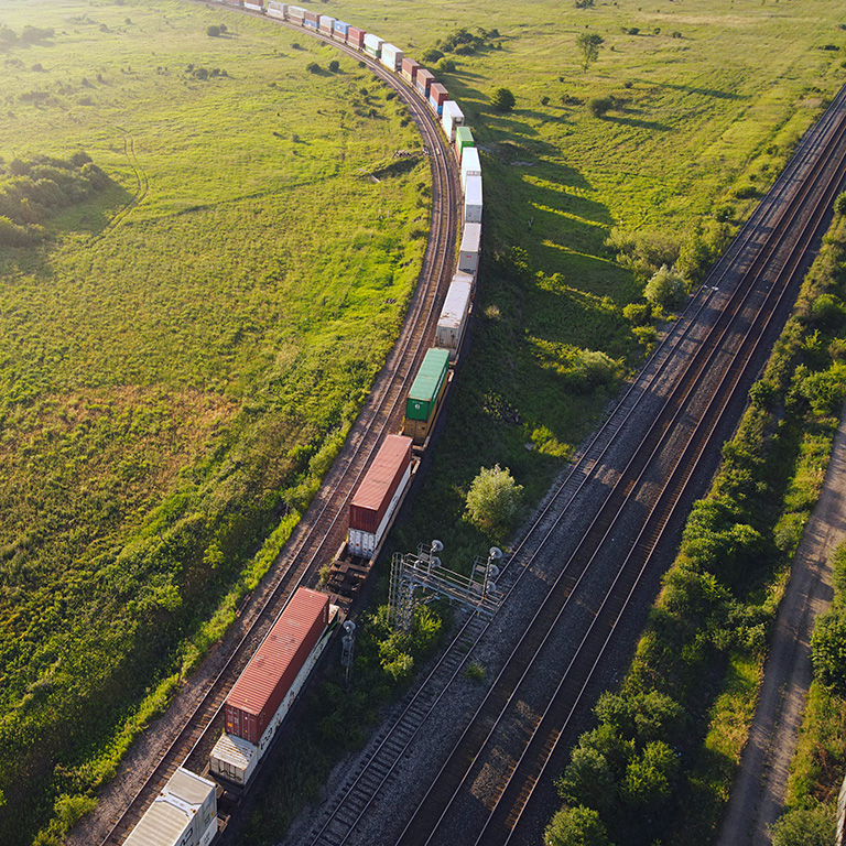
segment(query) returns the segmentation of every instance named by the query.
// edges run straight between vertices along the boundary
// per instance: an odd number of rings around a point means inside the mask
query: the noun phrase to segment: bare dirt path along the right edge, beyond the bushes
[[[788,764],[811,684],[811,632],[832,601],[828,556],[846,535],[846,405],[825,485],[793,562],[758,708],[717,846],[766,846],[784,804]]]

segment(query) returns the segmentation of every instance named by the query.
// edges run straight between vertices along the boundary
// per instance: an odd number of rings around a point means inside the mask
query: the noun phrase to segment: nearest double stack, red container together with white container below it
[[[224,735],[210,772],[243,787],[326,647],[338,608],[326,594],[300,587],[276,618],[224,704]]]

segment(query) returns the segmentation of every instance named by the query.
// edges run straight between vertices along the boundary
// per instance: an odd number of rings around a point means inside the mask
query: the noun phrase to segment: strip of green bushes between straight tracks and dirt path
[[[600,699],[598,728],[573,752],[553,844],[567,842],[579,806],[612,843],[708,843],[716,833],[846,397],[846,218],[826,241],[693,509],[620,692]]]

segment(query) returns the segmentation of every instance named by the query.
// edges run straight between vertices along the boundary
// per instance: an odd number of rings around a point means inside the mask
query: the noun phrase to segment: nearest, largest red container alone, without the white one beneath
[[[329,597],[299,588],[226,697],[227,734],[258,746],[328,623]]]

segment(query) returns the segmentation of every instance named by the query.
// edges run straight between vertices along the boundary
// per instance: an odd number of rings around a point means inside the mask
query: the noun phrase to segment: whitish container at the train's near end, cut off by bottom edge
[[[208,846],[217,834],[215,783],[180,767],[124,846]]]

